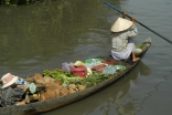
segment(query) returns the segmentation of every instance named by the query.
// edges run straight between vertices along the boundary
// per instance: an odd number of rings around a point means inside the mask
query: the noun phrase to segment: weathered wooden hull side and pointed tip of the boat
[[[142,58],[144,53],[147,52],[147,50],[150,48],[151,39],[147,39],[143,42],[143,44],[144,44],[144,46],[142,48],[143,52],[141,54],[138,54],[138,56],[140,58]],[[135,62],[132,65],[130,65],[128,63],[125,63],[123,61],[120,61],[120,63],[125,64],[127,69],[122,72],[118,72],[118,74],[116,74],[115,77],[108,79],[107,81],[101,82],[97,84],[96,86],[92,86],[80,92],[76,92],[69,95],[60,96],[60,97],[47,100],[47,101],[29,103],[29,104],[21,105],[21,106],[0,107],[0,115],[37,115],[40,113],[49,112],[49,111],[65,106],[67,104],[74,103],[76,101],[85,98],[107,87],[108,85],[117,82],[128,72],[130,72],[138,64],[138,62]]]

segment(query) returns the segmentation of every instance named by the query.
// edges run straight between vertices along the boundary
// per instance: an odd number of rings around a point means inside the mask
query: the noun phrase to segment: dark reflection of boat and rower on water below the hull
[[[55,115],[56,113],[61,115],[66,115],[67,113],[73,115],[135,115],[138,111],[138,105],[130,101],[131,82],[137,84],[138,77],[149,76],[150,74],[149,66],[140,61],[127,76],[120,79],[114,85],[83,101],[42,115]],[[68,112],[65,109],[68,109]]]

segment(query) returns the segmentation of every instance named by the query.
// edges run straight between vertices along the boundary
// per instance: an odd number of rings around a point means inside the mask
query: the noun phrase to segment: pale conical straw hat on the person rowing
[[[120,32],[129,29],[132,25],[132,21],[118,18],[118,20],[112,24],[111,32]]]

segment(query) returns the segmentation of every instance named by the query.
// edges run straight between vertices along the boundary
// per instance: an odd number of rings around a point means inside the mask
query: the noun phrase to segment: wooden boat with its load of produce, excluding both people
[[[142,43],[142,52],[137,53],[137,55],[142,58],[150,45],[151,39],[147,39]],[[30,91],[25,96],[29,104],[0,107],[1,114],[37,115],[74,103],[115,83],[130,72],[139,62],[135,62],[131,65],[127,61],[116,61],[111,58],[95,59],[96,61],[97,59],[101,61],[97,61],[98,63],[95,63],[93,59],[88,63],[87,60],[79,61],[79,63],[76,61],[76,65],[66,62],[67,70],[45,70],[43,73],[36,73],[33,76],[25,77],[24,80],[30,85]],[[71,72],[71,66],[85,66],[92,71],[92,74],[88,74],[87,70],[80,70],[74,74]],[[83,77],[80,73],[86,74],[86,76]]]

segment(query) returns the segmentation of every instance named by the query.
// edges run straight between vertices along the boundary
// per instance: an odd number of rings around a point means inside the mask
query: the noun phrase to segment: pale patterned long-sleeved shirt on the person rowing
[[[135,24],[126,31],[115,33],[111,45],[112,50],[116,52],[125,51],[128,44],[128,39],[136,35],[138,35],[138,30]]]

